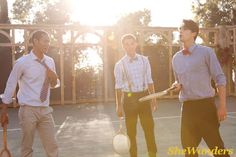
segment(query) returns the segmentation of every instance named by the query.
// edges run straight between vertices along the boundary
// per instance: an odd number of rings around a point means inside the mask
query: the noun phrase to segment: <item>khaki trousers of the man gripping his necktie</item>
[[[51,107],[20,106],[19,122],[22,129],[21,157],[33,156],[33,141],[37,130],[47,157],[58,157]]]

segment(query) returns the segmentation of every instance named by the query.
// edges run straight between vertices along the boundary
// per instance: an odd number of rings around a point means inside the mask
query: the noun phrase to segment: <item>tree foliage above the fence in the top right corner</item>
[[[235,0],[195,0],[192,10],[195,19],[204,27],[236,25]]]

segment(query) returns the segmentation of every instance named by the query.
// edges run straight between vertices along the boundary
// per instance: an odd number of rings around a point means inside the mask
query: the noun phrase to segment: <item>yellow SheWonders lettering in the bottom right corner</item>
[[[207,148],[194,148],[194,147],[187,147],[186,149],[181,149],[177,146],[175,147],[169,147],[167,154],[168,155],[225,155],[225,154],[233,154],[233,149],[219,149],[218,147],[215,147],[214,149],[207,149]]]

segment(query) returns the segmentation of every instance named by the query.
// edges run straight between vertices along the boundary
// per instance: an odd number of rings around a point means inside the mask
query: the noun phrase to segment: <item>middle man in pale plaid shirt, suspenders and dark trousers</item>
[[[156,142],[152,110],[157,108],[156,99],[139,102],[138,99],[154,93],[151,67],[147,57],[136,53],[137,41],[132,34],[122,37],[122,46],[126,55],[120,59],[114,69],[116,89],[116,112],[119,117],[125,113],[127,134],[130,138],[130,156],[137,157],[136,127],[140,118],[148,147],[149,157],[156,157]]]

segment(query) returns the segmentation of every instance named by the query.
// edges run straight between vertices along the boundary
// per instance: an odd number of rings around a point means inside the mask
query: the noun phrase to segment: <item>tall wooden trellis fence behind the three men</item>
[[[174,81],[171,59],[181,46],[178,29],[167,27],[124,30],[118,27],[75,25],[0,25],[0,56],[5,58],[1,59],[0,67],[11,67],[17,58],[29,52],[32,47],[30,38],[33,31],[38,29],[48,31],[51,36],[48,55],[54,58],[61,80],[61,87],[52,90],[53,104],[114,101],[113,69],[124,55],[120,38],[127,32],[137,36],[138,52],[149,57],[156,90],[161,91]],[[225,30],[228,46],[235,54],[236,27],[226,27]],[[220,31],[219,28],[202,28],[197,42],[217,51]],[[229,62],[223,68],[227,75],[228,95],[235,95],[232,65]],[[174,93],[166,96],[174,97]]]

